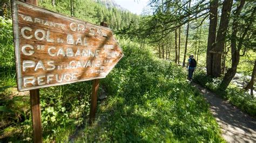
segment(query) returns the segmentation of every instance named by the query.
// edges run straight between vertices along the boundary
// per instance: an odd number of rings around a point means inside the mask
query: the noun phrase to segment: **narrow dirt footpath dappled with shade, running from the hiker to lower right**
[[[256,142],[255,118],[250,117],[200,85],[192,83],[192,86],[198,88],[210,103],[210,110],[227,142]]]

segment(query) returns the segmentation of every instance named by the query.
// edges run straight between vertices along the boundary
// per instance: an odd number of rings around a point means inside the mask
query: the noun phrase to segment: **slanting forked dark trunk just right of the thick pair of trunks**
[[[225,74],[223,81],[220,83],[220,87],[219,87],[220,90],[226,90],[232,78],[235,76],[235,73],[237,73],[237,66],[240,61],[240,49],[242,47],[242,40],[244,40],[245,35],[247,34],[247,31],[248,31],[248,27],[247,27],[244,33],[242,34],[242,37],[239,38],[239,43],[237,46],[238,19],[240,17],[240,12],[244,4],[245,4],[245,0],[241,0],[240,5],[238,6],[237,10],[235,10],[235,13],[234,13],[235,18],[232,24],[232,35],[231,35],[232,66],[230,69],[227,70],[227,73]]]

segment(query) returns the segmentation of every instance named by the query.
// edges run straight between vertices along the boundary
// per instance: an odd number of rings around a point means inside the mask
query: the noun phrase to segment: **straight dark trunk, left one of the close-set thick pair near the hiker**
[[[210,24],[207,41],[206,69],[207,75],[212,75],[212,53],[214,42],[216,39],[217,23],[218,23],[218,0],[212,0],[210,3]]]

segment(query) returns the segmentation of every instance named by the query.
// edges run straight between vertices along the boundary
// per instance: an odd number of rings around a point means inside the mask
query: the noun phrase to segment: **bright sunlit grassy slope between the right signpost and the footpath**
[[[125,58],[101,83],[110,98],[98,106],[96,122],[80,131],[84,138],[74,140],[224,141],[208,104],[186,82],[184,70],[132,47],[123,47]]]

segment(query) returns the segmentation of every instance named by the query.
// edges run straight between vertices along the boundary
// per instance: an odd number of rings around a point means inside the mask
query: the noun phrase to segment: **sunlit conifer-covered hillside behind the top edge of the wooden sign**
[[[43,8],[71,15],[70,0],[56,1],[52,5],[51,0],[39,1],[39,5]],[[130,23],[138,24],[140,17],[129,11],[123,11],[117,8],[106,8],[103,4],[92,2],[91,0],[77,0],[73,2],[74,17],[86,20],[86,22],[99,24],[106,22],[113,30],[129,26]]]

